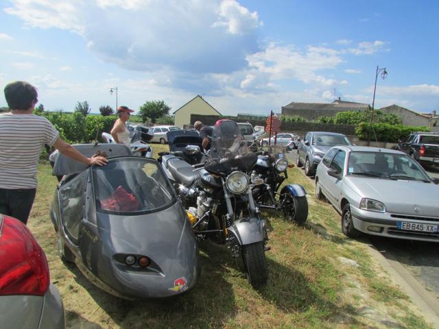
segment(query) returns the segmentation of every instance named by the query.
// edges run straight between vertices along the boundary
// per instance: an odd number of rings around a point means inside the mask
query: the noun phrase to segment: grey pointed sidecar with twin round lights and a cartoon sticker
[[[85,156],[106,154],[105,166],[86,166],[58,154],[50,218],[64,263],[75,263],[100,289],[128,299],[185,293],[200,276],[198,242],[161,165],[132,156],[123,144],[73,145]]]

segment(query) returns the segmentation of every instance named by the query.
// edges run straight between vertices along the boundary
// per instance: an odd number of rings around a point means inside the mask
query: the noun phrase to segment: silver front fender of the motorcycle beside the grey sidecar
[[[256,217],[238,219],[228,230],[236,237],[239,245],[250,245],[263,241],[262,219]]]

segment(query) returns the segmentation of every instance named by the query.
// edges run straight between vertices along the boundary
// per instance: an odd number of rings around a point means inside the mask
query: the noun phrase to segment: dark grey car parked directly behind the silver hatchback
[[[305,164],[305,175],[313,176],[324,154],[335,145],[351,145],[344,134],[335,132],[307,132],[297,145],[297,167]]]

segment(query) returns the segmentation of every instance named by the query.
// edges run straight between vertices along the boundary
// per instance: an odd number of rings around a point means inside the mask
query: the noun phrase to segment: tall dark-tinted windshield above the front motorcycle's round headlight
[[[249,171],[257,162],[257,155],[248,145],[235,121],[219,120],[213,127],[211,149],[204,168],[217,175],[233,171]]]

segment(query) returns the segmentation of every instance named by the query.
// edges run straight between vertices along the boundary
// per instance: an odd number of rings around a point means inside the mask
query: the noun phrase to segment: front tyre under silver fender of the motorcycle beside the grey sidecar
[[[268,267],[263,241],[241,246],[242,258],[247,271],[248,283],[253,288],[263,286],[268,280]]]

